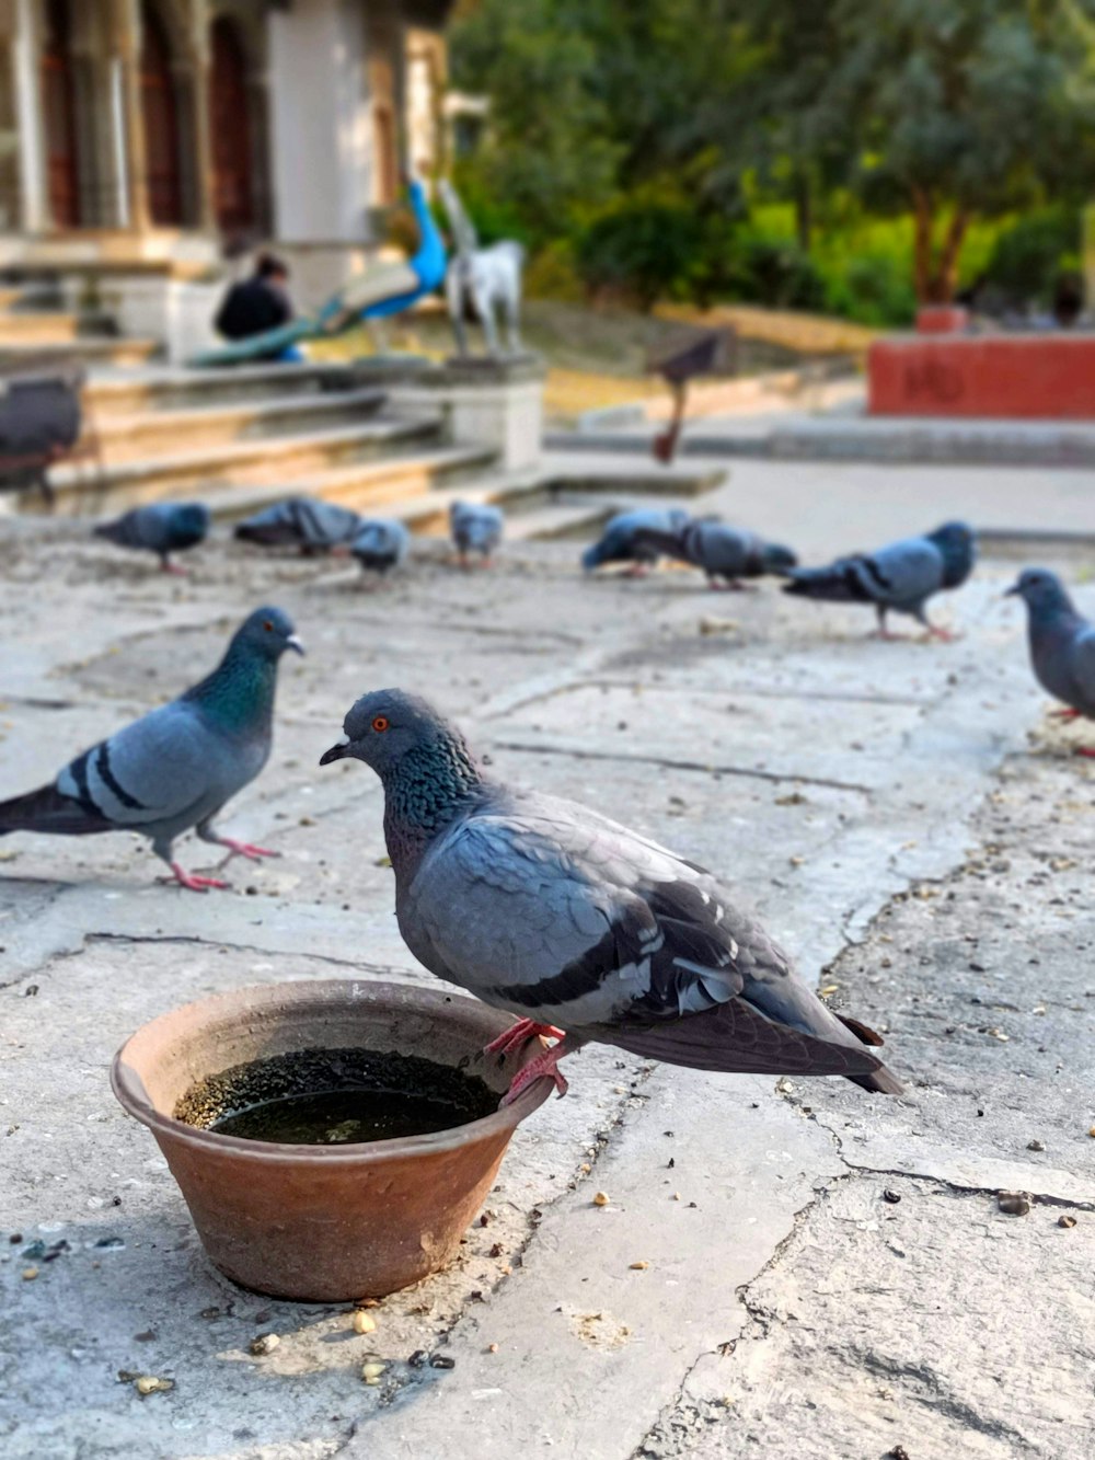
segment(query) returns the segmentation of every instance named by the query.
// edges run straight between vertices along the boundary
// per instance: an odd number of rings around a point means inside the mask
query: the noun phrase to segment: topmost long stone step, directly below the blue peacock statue
[[[362,388],[345,365],[245,365],[238,369],[150,366],[88,381],[86,400],[98,420],[149,410],[229,406],[245,400]]]

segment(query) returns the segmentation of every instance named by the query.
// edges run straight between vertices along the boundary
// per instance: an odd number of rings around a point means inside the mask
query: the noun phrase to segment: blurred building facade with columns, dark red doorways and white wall
[[[442,164],[450,4],[0,0],[6,258],[368,247]]]

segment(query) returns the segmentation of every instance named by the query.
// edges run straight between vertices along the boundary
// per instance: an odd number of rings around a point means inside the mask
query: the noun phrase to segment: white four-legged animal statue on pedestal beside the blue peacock
[[[483,326],[488,355],[498,356],[501,353],[496,311],[505,315],[510,353],[523,353],[518,320],[524,250],[511,241],[480,248],[474,225],[448,178],[442,178],[438,188],[453,228],[454,247],[445,274],[445,298],[460,355],[467,356],[469,353],[467,330],[464,328],[464,314],[469,304]]]

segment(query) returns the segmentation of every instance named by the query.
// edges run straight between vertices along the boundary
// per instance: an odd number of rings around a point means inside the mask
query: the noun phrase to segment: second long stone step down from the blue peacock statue
[[[139,461],[231,442],[301,435],[336,425],[361,425],[384,404],[383,390],[320,391],[272,400],[241,400],[184,410],[91,416],[104,460]]]

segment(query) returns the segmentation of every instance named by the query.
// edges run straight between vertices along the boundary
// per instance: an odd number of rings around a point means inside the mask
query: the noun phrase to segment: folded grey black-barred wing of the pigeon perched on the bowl
[[[733,1004],[714,1053],[699,1041],[708,1067],[784,1070],[784,1037],[848,1047],[831,1073],[877,1066],[714,877],[566,802],[461,822],[426,854],[400,927],[441,977],[578,1034],[634,1042],[673,1022],[699,1032],[707,1012]]]

